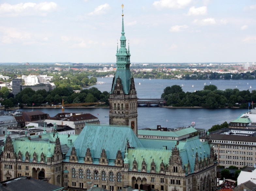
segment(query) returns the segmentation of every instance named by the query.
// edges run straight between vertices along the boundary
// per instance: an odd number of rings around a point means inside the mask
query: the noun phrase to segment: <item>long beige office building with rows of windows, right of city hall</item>
[[[209,134],[219,165],[253,167],[256,164],[256,130],[223,128]],[[205,137],[200,138],[205,141]]]

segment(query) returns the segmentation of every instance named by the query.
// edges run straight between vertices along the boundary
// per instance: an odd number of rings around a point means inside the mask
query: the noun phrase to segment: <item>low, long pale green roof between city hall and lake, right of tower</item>
[[[180,137],[185,134],[195,133],[197,130],[193,127],[181,129],[178,131],[151,131],[151,130],[138,130],[139,135],[150,135],[150,136],[168,136],[168,137]]]

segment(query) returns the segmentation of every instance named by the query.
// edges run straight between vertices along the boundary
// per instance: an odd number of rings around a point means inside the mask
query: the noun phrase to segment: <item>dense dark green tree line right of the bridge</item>
[[[256,90],[218,90],[215,85],[205,85],[203,90],[185,93],[181,86],[173,85],[164,89],[161,98],[166,106],[173,107],[248,108],[248,102],[256,101]]]

